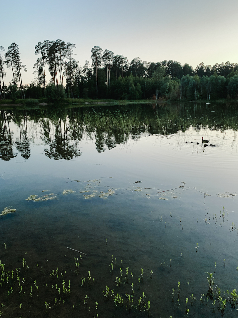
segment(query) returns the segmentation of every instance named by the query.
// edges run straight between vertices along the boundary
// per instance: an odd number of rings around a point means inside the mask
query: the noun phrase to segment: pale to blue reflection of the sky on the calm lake
[[[56,246],[65,246],[65,240],[76,246],[75,238],[82,236],[80,248],[88,252],[94,251],[96,242],[108,238],[109,251],[103,252],[108,257],[113,253],[130,260],[135,267],[144,264],[153,269],[157,285],[150,298],[153,301],[154,293],[160,295],[161,301],[156,306],[162,312],[166,312],[165,299],[171,298],[171,288],[178,280],[183,284],[184,295],[191,293],[187,281],[197,298],[201,291],[206,292],[204,273],[214,270],[215,261],[216,284],[224,290],[227,285],[229,289],[235,288],[237,231],[230,232],[232,222],[238,222],[235,131],[190,127],[171,135],[150,136],[143,131],[136,136],[129,134],[127,141],[110,150],[105,147],[104,152],[96,150],[94,133],[84,133],[77,142],[82,155],[71,160],[54,160],[46,156],[45,149],[50,146],[42,144],[40,125],[28,125],[29,158],[25,161],[14,149],[16,157],[1,161],[1,209],[7,206],[17,209],[14,215],[1,219],[4,239],[11,240],[12,231],[17,240],[30,235],[31,246],[35,242],[31,233],[41,231],[41,239],[48,242],[50,252]],[[10,123],[10,130],[13,141],[19,140],[19,127]],[[204,148],[201,137],[216,147]],[[95,179],[100,181],[89,181]],[[182,185],[183,188],[177,188]],[[158,193],[174,188],[177,189]],[[63,194],[63,190],[69,189],[75,192]],[[32,194],[46,195],[43,190],[54,193],[57,200],[25,201]],[[108,190],[113,195],[100,197]],[[218,196],[219,193],[228,197]],[[85,199],[88,194],[91,197]],[[223,206],[224,223],[220,218]],[[54,240],[49,241],[47,235]],[[26,244],[24,240],[21,242]],[[195,253],[197,242],[199,250]],[[96,258],[103,255],[97,253]],[[221,264],[224,258],[225,270]],[[174,264],[172,273],[160,265],[169,259]]]

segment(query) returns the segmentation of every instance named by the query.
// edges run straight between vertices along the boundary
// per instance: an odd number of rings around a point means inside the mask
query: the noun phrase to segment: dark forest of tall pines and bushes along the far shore
[[[12,43],[0,45],[0,99],[217,100],[238,97],[238,64],[200,63],[195,69],[173,60],[129,60],[99,46],[91,49],[91,65],[75,59],[75,44],[38,42],[32,82],[23,85],[25,65]],[[12,74],[7,85],[6,70]]]

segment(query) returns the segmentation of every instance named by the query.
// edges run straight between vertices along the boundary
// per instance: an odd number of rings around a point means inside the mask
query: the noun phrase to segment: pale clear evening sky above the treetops
[[[34,77],[35,45],[47,39],[74,43],[81,66],[95,45],[129,61],[238,63],[237,0],[0,0],[0,10],[0,45],[18,44],[24,84]]]

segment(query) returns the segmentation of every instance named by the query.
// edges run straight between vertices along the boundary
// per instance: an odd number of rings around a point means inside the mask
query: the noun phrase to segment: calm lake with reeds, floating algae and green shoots
[[[237,104],[1,115],[3,317],[237,315]]]

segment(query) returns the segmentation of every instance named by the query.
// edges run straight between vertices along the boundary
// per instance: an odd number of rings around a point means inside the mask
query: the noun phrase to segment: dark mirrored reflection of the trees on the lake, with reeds
[[[199,131],[237,129],[237,106],[234,104],[143,104],[113,107],[69,107],[28,110],[1,110],[0,157],[30,158],[30,145],[49,145],[45,155],[55,160],[70,160],[82,155],[80,141],[95,142],[101,153],[129,137],[142,134],[171,135],[188,128]],[[15,132],[13,132],[15,126]],[[40,133],[40,135],[39,135]]]

